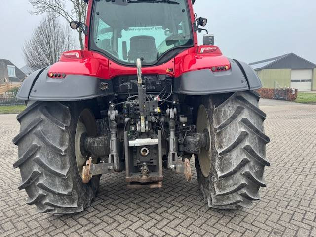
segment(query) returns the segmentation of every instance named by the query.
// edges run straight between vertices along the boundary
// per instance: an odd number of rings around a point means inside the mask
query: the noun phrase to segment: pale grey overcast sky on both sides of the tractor
[[[28,0],[0,0],[0,58],[25,65],[22,46],[41,16]],[[316,63],[316,0],[197,0],[223,53],[247,63],[293,52]],[[200,40],[202,39],[200,33]]]

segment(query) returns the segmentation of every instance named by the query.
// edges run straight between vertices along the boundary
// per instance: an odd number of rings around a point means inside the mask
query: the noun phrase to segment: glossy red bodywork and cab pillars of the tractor
[[[192,25],[195,21],[192,1],[188,0]],[[92,14],[92,1],[89,1],[86,24],[90,25]],[[143,74],[168,74],[179,77],[181,74],[200,69],[212,69],[213,67],[228,66],[231,67],[229,60],[222,55],[221,50],[216,46],[197,45],[197,32],[192,27],[195,46],[182,51],[170,61],[157,66],[144,66]],[[112,60],[107,59],[102,54],[88,50],[89,34],[85,37],[85,49],[76,50],[82,58],[69,58],[62,55],[60,61],[55,63],[49,69],[48,75],[65,74],[65,75],[85,75],[94,76],[102,79],[111,79],[118,75],[135,75],[137,74],[136,66],[124,66]],[[216,50],[201,52],[201,47],[216,47]],[[215,70],[217,71],[217,70]]]

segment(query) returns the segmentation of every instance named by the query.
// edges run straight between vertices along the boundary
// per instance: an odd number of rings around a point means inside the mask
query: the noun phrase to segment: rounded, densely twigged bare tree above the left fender
[[[60,55],[74,49],[75,40],[67,26],[51,14],[45,16],[35,28],[31,40],[23,47],[24,59],[34,70],[57,62]]]

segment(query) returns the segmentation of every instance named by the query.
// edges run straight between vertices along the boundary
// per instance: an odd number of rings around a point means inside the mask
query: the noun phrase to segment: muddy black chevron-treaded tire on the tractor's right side
[[[266,114],[258,108],[259,98],[252,91],[200,98],[197,130],[209,126],[211,142],[208,152],[196,156],[196,169],[209,207],[248,207],[260,199],[259,188],[266,186],[264,167],[270,163],[265,147],[270,139],[264,134]],[[205,117],[202,110],[208,119],[198,118]],[[203,120],[208,120],[205,125]]]

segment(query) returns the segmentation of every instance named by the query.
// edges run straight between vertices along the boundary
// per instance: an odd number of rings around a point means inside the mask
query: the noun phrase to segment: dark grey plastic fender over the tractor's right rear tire
[[[182,74],[174,79],[175,93],[208,95],[256,90],[262,87],[256,72],[246,63],[230,59],[231,69],[213,72],[202,69]]]

